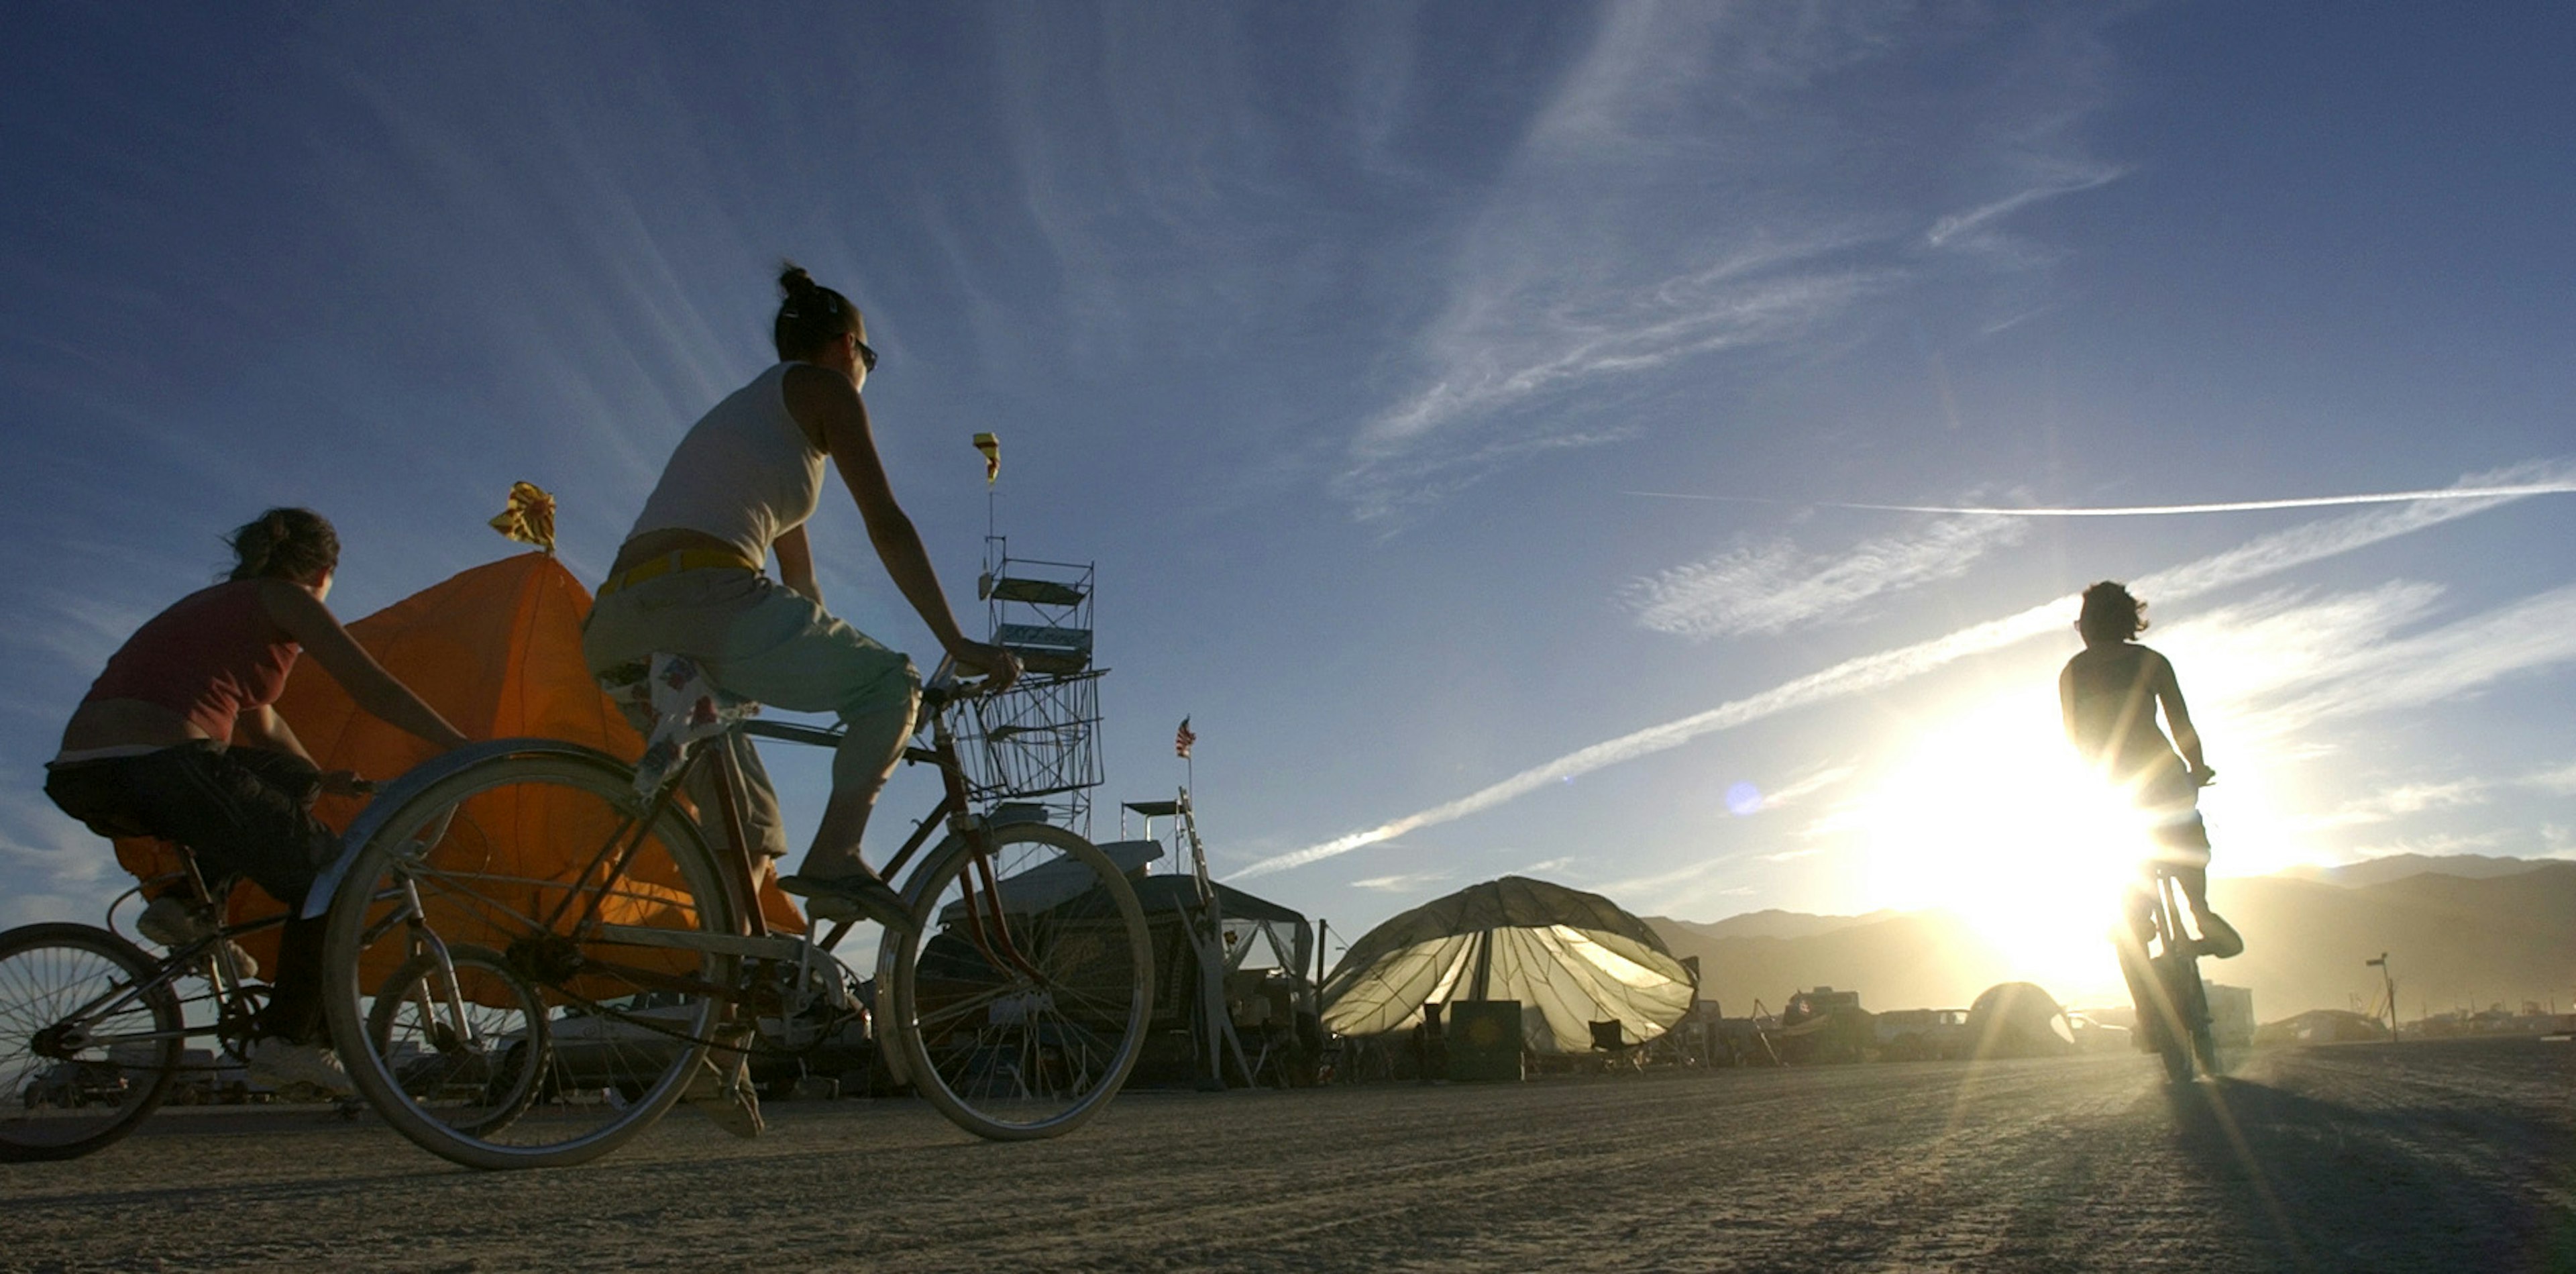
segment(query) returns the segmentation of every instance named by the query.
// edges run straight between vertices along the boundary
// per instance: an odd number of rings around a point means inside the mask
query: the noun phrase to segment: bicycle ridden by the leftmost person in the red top
[[[237,939],[286,924],[286,914],[242,924],[214,924],[167,955],[152,957],[116,929],[116,906],[149,885],[170,885],[198,914],[211,914],[216,896],[196,865],[178,849],[173,878],[137,885],[108,903],[108,924],[26,924],[0,934],[0,1161],[80,1158],[134,1132],[183,1081],[196,1081],[188,1096],[247,1099],[242,1063],[222,1063],[214,1050],[188,1050],[196,1037],[214,1037],[234,1058],[250,1055],[268,986],[245,968]],[[477,952],[456,952],[456,965],[415,963],[404,983],[379,986],[386,1019],[404,1001],[453,996],[456,968],[474,968]],[[500,970],[495,970],[500,975]],[[471,1073],[487,1120],[515,1117],[528,1099],[528,1076],[495,1066],[474,1068],[477,1029],[492,1032],[489,1011],[471,1019],[461,1011],[453,1029],[422,1048],[407,1081],[453,1084]],[[355,1104],[343,1107],[355,1114]]]

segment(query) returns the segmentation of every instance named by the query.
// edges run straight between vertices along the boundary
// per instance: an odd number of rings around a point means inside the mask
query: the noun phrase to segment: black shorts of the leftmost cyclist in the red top
[[[209,883],[247,875],[286,906],[340,857],[340,834],[312,816],[319,790],[299,757],[211,739],[44,767],[44,795],[90,831],[180,842]]]

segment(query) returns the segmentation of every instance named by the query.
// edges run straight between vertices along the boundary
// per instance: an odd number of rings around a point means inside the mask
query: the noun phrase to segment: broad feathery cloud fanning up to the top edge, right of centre
[[[2069,139],[2102,98],[2089,18],[1981,23],[1978,57],[2027,72],[2004,93],[1911,75],[1950,46],[1927,28],[1850,5],[1602,10],[1422,268],[1443,304],[1391,360],[1399,389],[1360,422],[1334,494],[1383,517],[1528,456],[1492,440],[1620,438],[1589,420],[1618,414],[1602,394],[1808,345],[1955,268],[1924,252],[1924,224],[1955,255],[2014,208],[2117,175]],[[1984,198],[1935,219],[1922,193],[1960,183]]]

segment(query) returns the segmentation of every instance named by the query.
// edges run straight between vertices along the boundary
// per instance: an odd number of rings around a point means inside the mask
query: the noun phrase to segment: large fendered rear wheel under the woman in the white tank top
[[[495,754],[358,849],[325,939],[332,1040],[420,1148],[471,1168],[582,1163],[652,1127],[706,1066],[739,963],[714,950],[734,898],[696,826],[672,806],[647,826],[631,782],[567,744]],[[428,973],[440,945],[453,986]],[[456,1029],[446,991],[492,1027],[456,1055],[459,1084],[425,1060]],[[497,1089],[466,1091],[474,1073]]]

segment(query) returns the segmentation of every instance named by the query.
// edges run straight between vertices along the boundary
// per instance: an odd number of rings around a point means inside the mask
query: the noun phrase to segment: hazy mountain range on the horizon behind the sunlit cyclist
[[[2254,991],[2264,1022],[2380,999],[2388,955],[2398,1014],[2524,1001],[2576,1006],[2576,862],[2398,854],[2352,867],[2210,883],[2210,901],[2246,934],[2246,952],[2202,975]],[[1700,924],[1649,916],[1674,955],[1700,957],[1700,996],[1741,1017],[1801,988],[1860,991],[1865,1009],[1947,1009],[2017,970],[1947,911],[1811,916],[1752,911]],[[2102,950],[2097,983],[2110,973]],[[2061,996],[2081,1001],[2058,988]],[[2099,999],[2099,991],[2092,993]]]

